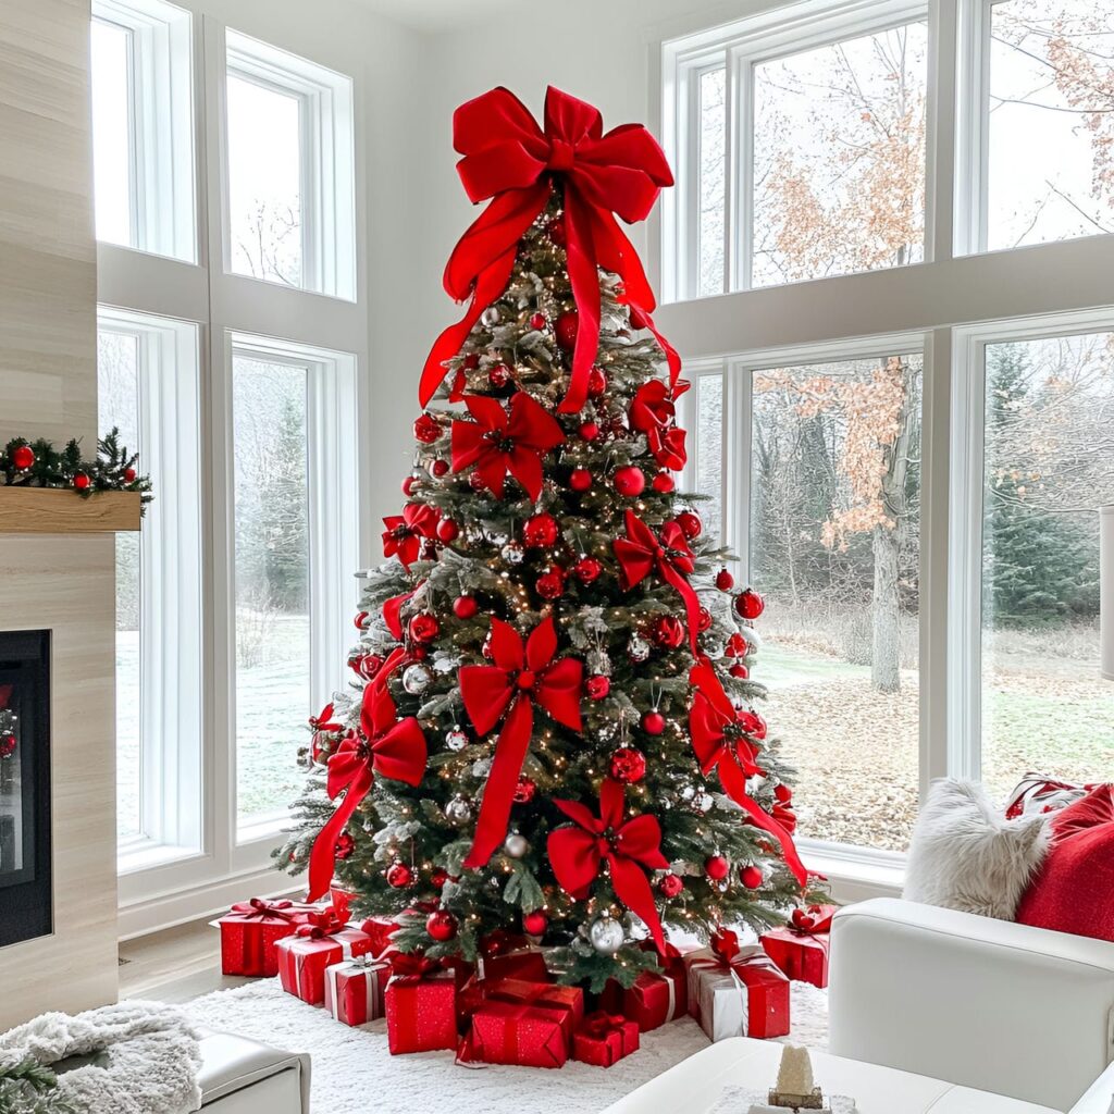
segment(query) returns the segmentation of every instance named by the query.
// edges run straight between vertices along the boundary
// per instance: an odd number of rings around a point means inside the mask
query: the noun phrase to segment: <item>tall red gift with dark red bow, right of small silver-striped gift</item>
[[[383,994],[392,1056],[457,1047],[457,973],[436,959],[395,952]]]

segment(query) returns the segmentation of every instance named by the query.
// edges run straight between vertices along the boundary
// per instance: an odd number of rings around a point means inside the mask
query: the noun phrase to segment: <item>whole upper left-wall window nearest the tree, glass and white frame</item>
[[[352,81],[226,33],[226,265],[355,296]]]

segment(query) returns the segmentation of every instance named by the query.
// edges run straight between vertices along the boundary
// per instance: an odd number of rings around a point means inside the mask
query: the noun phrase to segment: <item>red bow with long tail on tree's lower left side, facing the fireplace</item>
[[[385,685],[371,683],[364,687],[360,726],[364,737],[342,740],[329,758],[329,797],[335,800],[343,790],[344,800],[321,829],[310,853],[311,901],[329,889],[336,862],[336,839],[368,795],[374,775],[417,785],[426,772],[426,736],[412,715],[397,719]]]

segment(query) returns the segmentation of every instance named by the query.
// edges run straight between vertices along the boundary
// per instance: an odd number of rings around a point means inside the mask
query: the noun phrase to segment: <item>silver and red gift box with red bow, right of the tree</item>
[[[684,957],[688,1013],[712,1040],[783,1037],[789,1033],[789,979],[758,945],[739,946],[721,929],[712,946]]]

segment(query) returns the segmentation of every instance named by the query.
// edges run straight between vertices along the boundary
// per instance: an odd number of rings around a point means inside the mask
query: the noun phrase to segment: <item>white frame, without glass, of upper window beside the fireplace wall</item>
[[[92,0],[92,18],[128,33],[131,246],[193,263],[197,227],[190,13],[166,0]]]

